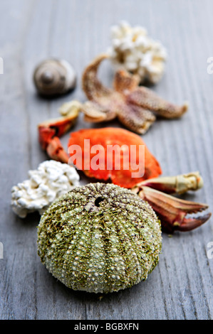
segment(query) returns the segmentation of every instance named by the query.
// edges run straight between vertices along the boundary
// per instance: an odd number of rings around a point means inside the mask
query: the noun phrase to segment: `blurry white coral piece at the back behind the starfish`
[[[111,28],[110,58],[117,68],[140,76],[141,82],[158,82],[165,71],[167,51],[147,36],[145,28],[122,21]]]

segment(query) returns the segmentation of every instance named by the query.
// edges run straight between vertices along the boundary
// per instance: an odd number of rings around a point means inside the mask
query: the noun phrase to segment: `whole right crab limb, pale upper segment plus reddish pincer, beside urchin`
[[[146,200],[160,218],[162,230],[165,232],[182,232],[194,230],[211,217],[211,213],[199,217],[189,217],[208,208],[207,204],[181,200],[167,193],[186,193],[188,190],[202,188],[203,181],[199,172],[182,174],[166,178],[153,178],[136,185],[132,190],[142,200]],[[159,189],[159,190],[157,190]],[[160,191],[161,190],[161,191]]]

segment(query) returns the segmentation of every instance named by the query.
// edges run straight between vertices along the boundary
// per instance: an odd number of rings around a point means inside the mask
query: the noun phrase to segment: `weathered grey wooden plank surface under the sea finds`
[[[209,204],[213,211],[213,56],[211,0],[0,0],[1,319],[211,319],[213,318],[213,221],[198,230],[163,235],[160,263],[145,282],[103,296],[72,291],[41,264],[36,249],[38,215],[25,220],[10,208],[11,187],[27,178],[29,169],[46,160],[36,126],[58,116],[71,99],[85,100],[80,76],[90,60],[110,44],[110,26],[120,20],[145,26],[167,48],[163,79],[152,87],[172,102],[189,101],[179,120],[158,120],[143,136],[160,161],[163,175],[200,171],[204,188],[186,199]],[[33,68],[49,56],[76,68],[78,87],[49,101],[36,95]],[[113,69],[101,70],[108,85]],[[76,129],[90,127],[80,117]],[[120,124],[117,124],[120,126]],[[64,136],[66,145],[68,135]],[[83,179],[82,182],[88,180]]]

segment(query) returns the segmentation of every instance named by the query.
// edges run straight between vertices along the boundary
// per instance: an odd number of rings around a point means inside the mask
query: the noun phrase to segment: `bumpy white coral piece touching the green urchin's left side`
[[[56,198],[79,185],[80,179],[75,168],[53,160],[28,171],[28,177],[11,189],[12,209],[21,218],[37,210],[42,214]]]

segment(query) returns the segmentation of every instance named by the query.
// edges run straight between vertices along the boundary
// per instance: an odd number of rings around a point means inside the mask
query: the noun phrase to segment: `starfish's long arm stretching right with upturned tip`
[[[127,99],[128,102],[140,105],[145,109],[152,110],[156,114],[167,119],[181,117],[188,109],[187,103],[182,106],[177,106],[167,102],[165,99],[162,99],[155,94],[155,92],[152,92],[152,90],[146,87],[138,87],[133,90],[133,92],[128,94]]]

